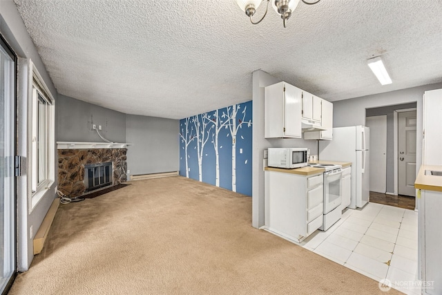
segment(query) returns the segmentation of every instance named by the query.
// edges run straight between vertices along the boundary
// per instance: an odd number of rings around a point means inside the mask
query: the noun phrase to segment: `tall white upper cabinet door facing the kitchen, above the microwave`
[[[301,128],[302,91],[290,84],[285,84],[285,137],[302,137]]]

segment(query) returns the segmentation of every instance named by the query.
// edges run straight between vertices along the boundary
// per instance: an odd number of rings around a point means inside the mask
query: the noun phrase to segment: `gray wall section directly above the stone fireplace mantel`
[[[55,111],[58,142],[103,142],[92,129],[102,125],[99,133],[111,142],[126,142],[126,114],[109,108],[58,95]]]

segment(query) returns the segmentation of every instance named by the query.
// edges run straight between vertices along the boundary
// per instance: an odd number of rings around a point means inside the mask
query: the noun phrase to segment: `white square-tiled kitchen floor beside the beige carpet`
[[[369,203],[347,209],[327,231],[299,245],[374,280],[387,278],[405,294],[420,294],[417,278],[417,212]]]

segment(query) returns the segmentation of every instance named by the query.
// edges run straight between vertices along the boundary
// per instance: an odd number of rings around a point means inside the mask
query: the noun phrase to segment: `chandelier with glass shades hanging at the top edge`
[[[265,13],[259,21],[253,21],[252,17],[255,15],[258,6],[260,6],[262,1],[267,1],[267,7],[265,9]],[[271,5],[273,9],[281,16],[282,23],[284,24],[284,28],[287,26],[287,19],[291,17],[291,12],[293,12],[298,6],[300,0],[271,0]],[[316,0],[313,2],[309,2],[306,0],[302,0],[302,3],[312,5],[318,3],[320,0]],[[269,10],[269,2],[270,0],[236,0],[238,6],[242,9],[242,11],[246,12],[247,17],[250,17],[251,23],[254,25],[260,23],[262,19],[267,15],[267,10]]]

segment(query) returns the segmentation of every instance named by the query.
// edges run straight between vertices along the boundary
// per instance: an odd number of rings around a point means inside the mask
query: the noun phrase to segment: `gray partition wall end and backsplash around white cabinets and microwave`
[[[252,74],[252,97],[253,97],[253,162],[252,162],[252,226],[264,225],[264,150],[269,147],[306,147],[311,155],[318,154],[317,140],[302,139],[266,139],[264,138],[264,87],[280,82],[276,77],[256,70]],[[287,83],[293,84],[291,81]],[[365,115],[365,114],[364,114]]]

